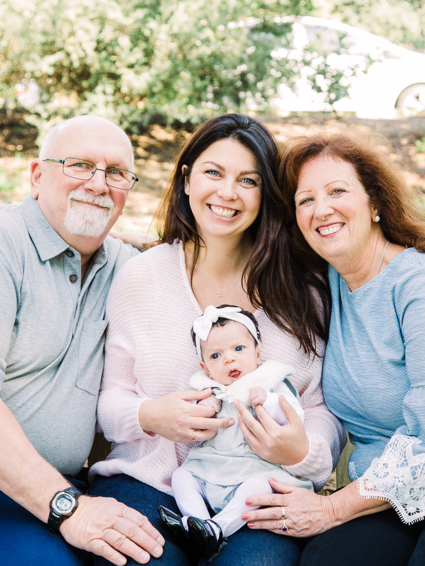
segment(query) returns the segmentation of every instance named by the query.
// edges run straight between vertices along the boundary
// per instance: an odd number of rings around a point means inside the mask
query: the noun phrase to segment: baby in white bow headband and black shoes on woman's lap
[[[256,318],[239,307],[209,306],[194,321],[192,338],[203,371],[194,374],[189,385],[199,391],[211,387],[213,393],[199,404],[211,406],[220,418],[233,418],[235,424],[193,447],[173,473],[173,494],[182,517],[163,507],[159,513],[175,534],[180,529],[181,542],[188,539],[199,555],[210,557],[221,550],[223,537],[245,524],[243,512],[255,509],[245,499],[273,493],[270,477],[312,491],[313,485],[309,479],[296,478],[278,464],[262,460],[249,448],[237,425],[235,399],[254,416],[254,408],[262,405],[275,421],[286,424],[278,402],[282,394],[304,422],[299,395],[287,378],[294,369],[275,361],[261,365]],[[206,504],[215,513],[214,520]]]

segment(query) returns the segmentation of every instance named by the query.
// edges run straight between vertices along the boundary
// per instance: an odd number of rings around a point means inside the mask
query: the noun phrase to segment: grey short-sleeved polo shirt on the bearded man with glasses
[[[137,253],[108,236],[81,286],[79,253],[37,200],[0,207],[0,397],[63,474],[78,473],[90,452],[108,289]]]

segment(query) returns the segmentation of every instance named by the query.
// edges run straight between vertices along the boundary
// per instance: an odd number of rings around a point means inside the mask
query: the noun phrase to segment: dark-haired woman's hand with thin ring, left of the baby
[[[202,442],[213,438],[218,428],[235,424],[231,418],[216,419],[211,406],[188,403],[205,399],[211,395],[211,388],[204,391],[177,391],[158,399],[143,401],[139,409],[140,426],[145,432],[156,432],[174,442]]]

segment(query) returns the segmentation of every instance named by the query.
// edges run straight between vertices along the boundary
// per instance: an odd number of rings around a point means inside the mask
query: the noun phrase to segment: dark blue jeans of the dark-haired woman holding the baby
[[[125,474],[113,475],[110,478],[97,476],[94,484],[88,490],[90,495],[113,497],[129,507],[137,509],[160,531],[165,539],[164,553],[158,559],[152,559],[153,564],[162,566],[191,566],[189,558],[175,544],[168,529],[160,521],[158,505],[180,513],[176,501],[171,495],[164,494],[146,483],[139,482]],[[246,526],[229,537],[229,542],[223,551],[207,563],[201,560],[199,564],[211,566],[297,566],[301,555],[303,541],[283,537],[265,530],[250,530]],[[107,560],[95,556],[96,566],[110,566]],[[135,566],[137,562],[129,559],[128,565]]]

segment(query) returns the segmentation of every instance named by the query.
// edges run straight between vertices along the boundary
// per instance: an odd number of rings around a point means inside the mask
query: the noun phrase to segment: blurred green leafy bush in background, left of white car
[[[15,85],[35,80],[41,98],[28,121],[41,132],[87,113],[137,132],[152,118],[264,110],[307,65],[332,104],[346,94],[341,70],[317,50],[291,58],[290,24],[279,16],[313,8],[312,0],[3,0],[1,101],[14,109]]]

